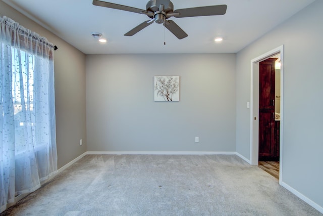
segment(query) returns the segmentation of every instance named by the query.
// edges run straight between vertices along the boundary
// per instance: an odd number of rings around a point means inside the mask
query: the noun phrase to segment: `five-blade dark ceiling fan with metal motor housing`
[[[183,17],[198,17],[198,16],[213,16],[224,15],[227,11],[227,5],[214,5],[196,8],[185,8],[174,11],[174,5],[170,0],[150,0],[146,4],[146,10],[133,8],[125,5],[118,5],[114,3],[104,2],[101,0],[93,0],[93,5],[106,8],[119,9],[123,11],[134,12],[138,14],[145,14],[151,20],[144,21],[132,30],[125,33],[125,36],[132,36],[149,26],[153,22],[162,24],[170,30],[178,39],[183,39],[188,35],[181,29],[173,20],[167,20],[170,17],[183,18]]]

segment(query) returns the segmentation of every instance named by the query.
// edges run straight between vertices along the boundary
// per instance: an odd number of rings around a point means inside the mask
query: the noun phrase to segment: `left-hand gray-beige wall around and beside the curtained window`
[[[0,15],[46,37],[55,51],[55,100],[58,167],[86,151],[85,55],[64,40],[0,1]],[[79,140],[83,139],[83,145]]]

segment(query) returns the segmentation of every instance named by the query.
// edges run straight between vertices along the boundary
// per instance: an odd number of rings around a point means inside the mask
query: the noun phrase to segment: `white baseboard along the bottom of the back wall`
[[[235,155],[236,152],[210,152],[210,151],[88,151],[87,154],[151,154],[151,155],[216,155],[216,154],[225,154],[225,155]]]

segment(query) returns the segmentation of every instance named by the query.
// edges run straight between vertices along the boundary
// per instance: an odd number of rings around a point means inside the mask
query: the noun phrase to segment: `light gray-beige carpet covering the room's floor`
[[[86,155],[1,215],[322,215],[235,155]]]

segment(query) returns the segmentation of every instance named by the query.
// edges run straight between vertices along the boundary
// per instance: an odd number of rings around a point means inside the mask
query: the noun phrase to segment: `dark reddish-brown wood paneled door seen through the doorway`
[[[279,159],[275,123],[276,60],[270,58],[259,63],[259,160]]]

